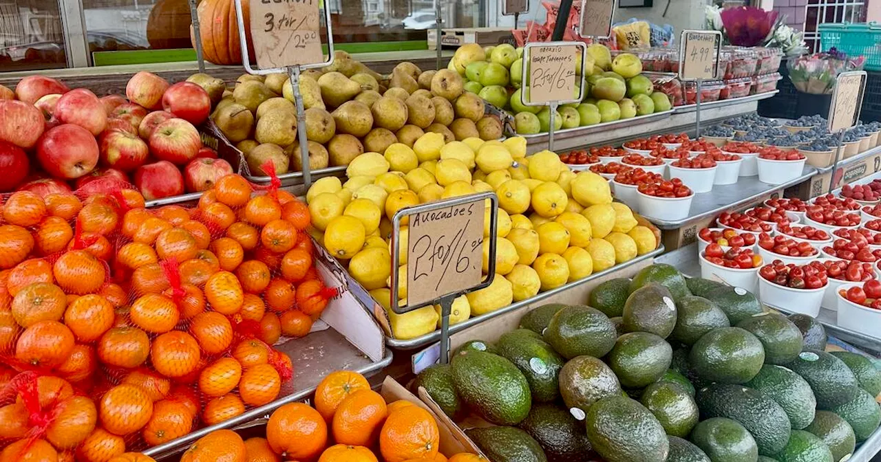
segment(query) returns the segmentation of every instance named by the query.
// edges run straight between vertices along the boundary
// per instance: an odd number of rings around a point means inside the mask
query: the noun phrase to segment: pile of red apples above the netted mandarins
[[[125,97],[98,98],[30,76],[14,97],[0,99],[0,192],[107,192],[134,183],[150,201],[204,191],[233,172],[202,145],[196,126],[211,99],[197,84],[138,72]]]

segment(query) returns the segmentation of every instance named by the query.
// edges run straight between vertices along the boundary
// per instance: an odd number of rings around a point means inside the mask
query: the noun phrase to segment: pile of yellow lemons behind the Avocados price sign
[[[593,172],[572,172],[557,154],[526,157],[526,140],[467,138],[444,143],[426,133],[412,147],[395,143],[366,152],[346,169],[348,180],[315,181],[307,193],[312,236],[341,260],[352,277],[386,308],[392,334],[411,339],[440,326],[440,307],[397,315],[389,310],[390,218],[404,207],[494,191],[499,196],[496,275],[484,290],[458,297],[450,324],[498,310],[655,250],[655,234],[637,225],[625,204],[612,202],[609,183]],[[484,235],[490,230],[486,209]],[[401,229],[406,248],[407,228]],[[489,240],[484,242],[484,273]],[[406,252],[398,297],[405,299]]]

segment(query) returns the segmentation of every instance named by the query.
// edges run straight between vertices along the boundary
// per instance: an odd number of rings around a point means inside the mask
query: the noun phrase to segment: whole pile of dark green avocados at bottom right
[[[422,386],[492,462],[840,462],[881,423],[881,373],[823,326],[670,265],[469,341]]]

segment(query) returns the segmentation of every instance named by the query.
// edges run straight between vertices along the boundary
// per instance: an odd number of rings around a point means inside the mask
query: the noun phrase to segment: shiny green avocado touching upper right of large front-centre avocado
[[[698,423],[698,405],[682,385],[671,382],[648,385],[640,403],[661,422],[667,435],[688,436]]]

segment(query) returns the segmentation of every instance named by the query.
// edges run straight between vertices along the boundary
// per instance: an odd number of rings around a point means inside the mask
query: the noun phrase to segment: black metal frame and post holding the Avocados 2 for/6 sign
[[[423,302],[420,304],[404,304],[400,305],[400,300],[398,299],[398,290],[401,282],[398,280],[398,270],[400,267],[400,259],[401,259],[401,220],[405,216],[416,215],[419,213],[429,212],[432,210],[439,209],[448,209],[450,207],[455,207],[457,205],[463,205],[470,202],[477,201],[486,201],[490,202],[490,248],[489,248],[489,270],[486,273],[485,280],[480,282],[477,286],[464,288],[461,290],[455,290],[454,292],[448,294],[440,294],[437,297],[434,297],[433,300],[429,300],[427,302]],[[485,215],[480,216],[480,220],[484,219]],[[407,312],[412,312],[424,306],[440,304],[441,305],[441,364],[446,364],[449,362],[449,315],[453,309],[453,301],[457,297],[461,297],[469,292],[473,292],[475,290],[485,289],[492,284],[492,280],[495,277],[495,254],[496,254],[496,239],[494,238],[496,235],[496,230],[498,229],[498,216],[499,216],[499,196],[492,192],[478,193],[478,194],[468,194],[459,197],[453,197],[450,199],[444,199],[436,202],[427,202],[424,204],[414,205],[412,207],[405,207],[403,209],[398,210],[395,213],[395,216],[392,216],[391,225],[391,300],[389,301],[391,309],[393,312],[397,314],[403,314]],[[486,238],[486,237],[484,237]],[[408,243],[409,245],[409,243]],[[442,249],[441,249],[442,250]],[[451,253],[455,251],[455,248],[448,248],[447,255],[448,258],[452,258]],[[409,252],[409,249],[404,249],[404,252]],[[461,253],[461,250],[459,251]],[[408,259],[409,260],[409,259]]]

